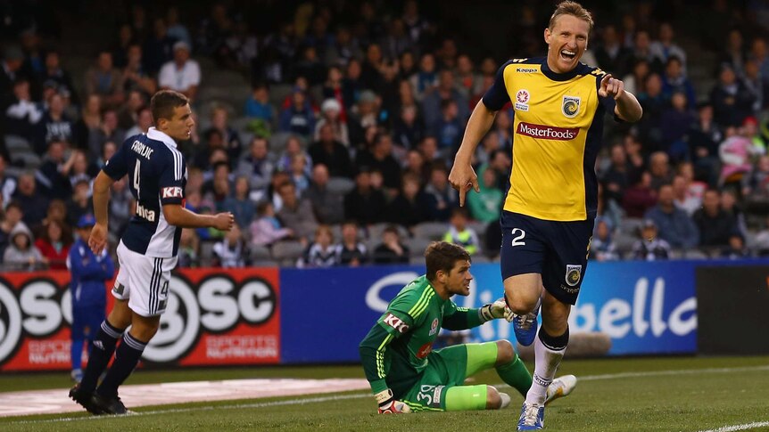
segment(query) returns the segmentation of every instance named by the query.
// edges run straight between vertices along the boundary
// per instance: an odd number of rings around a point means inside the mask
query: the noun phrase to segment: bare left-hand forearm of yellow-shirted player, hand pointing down
[[[451,174],[449,174],[449,183],[459,191],[459,206],[465,205],[465,194],[470,189],[480,192],[478,175],[475,175],[475,170],[471,165],[473,154],[478,143],[492,128],[496,117],[497,111],[490,110],[482,99],[475,105],[475,109],[467,121],[465,136],[462,137],[462,144],[459,146],[457,156],[454,157],[454,166],[451,167]]]

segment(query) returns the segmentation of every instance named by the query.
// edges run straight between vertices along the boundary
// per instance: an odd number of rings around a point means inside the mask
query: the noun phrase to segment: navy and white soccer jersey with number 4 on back
[[[128,138],[103,167],[120,180],[128,175],[128,188],[136,199],[136,214],[123,232],[123,244],[148,257],[176,257],[181,228],[163,216],[164,204],[184,206],[186,163],[177,144],[151,127],[147,134]]]

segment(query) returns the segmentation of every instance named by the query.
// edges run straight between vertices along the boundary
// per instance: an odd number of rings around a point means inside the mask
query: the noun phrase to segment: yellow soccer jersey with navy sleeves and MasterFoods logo
[[[502,65],[483,101],[494,111],[512,102],[515,111],[505,210],[551,221],[595,217],[595,159],[604,114],[615,106],[598,95],[605,75],[583,63],[558,74],[545,57]]]

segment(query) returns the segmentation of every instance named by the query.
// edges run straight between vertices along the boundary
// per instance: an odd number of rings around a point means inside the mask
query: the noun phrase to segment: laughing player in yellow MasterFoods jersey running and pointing
[[[513,164],[500,216],[500,267],[505,299],[517,314],[516,337],[522,345],[534,343],[535,355],[518,430],[542,428],[547,387],[568,343],[568,316],[583,281],[596,216],[594,166],[605,113],[629,122],[642,113],[621,80],[579,62],[592,25],[580,4],[558,4],[544,30],[547,57],[502,65],[470,116],[449,175],[464,205],[470,189],[478,192],[470,165],[475,147],[497,111],[512,102]]]

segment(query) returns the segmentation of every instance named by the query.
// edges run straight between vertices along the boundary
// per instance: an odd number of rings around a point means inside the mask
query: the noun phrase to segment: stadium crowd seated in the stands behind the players
[[[695,35],[717,54],[715,84],[703,88],[709,80],[689,78],[699,53],[682,47],[678,21],[656,13],[662,3],[593,9],[616,20],[599,20],[583,62],[621,77],[644,114],[605,136],[591,257],[769,255],[769,28],[761,24],[769,20],[760,19],[769,11],[760,2],[706,8],[702,22],[720,24]],[[126,19],[103,38],[113,42],[87,70],[67,69],[62,41],[45,36],[50,22],[4,11],[12,18],[0,20],[4,269],[65,268],[72,226],[92,211],[95,175],[125,139],[152,126],[147,103],[161,88],[189,96],[198,115],[181,143],[186,207],[231,211],[237,224],[223,237],[184,230],[182,266],[421,262],[436,239],[462,244],[475,260],[499,253],[509,106],[475,154],[481,191],[466,208],[447,176],[469,112],[505,59],[478,57],[419,2],[306,2],[259,31],[231,2],[211,5],[199,22],[173,5],[124,6]],[[542,55],[550,4],[517,7],[509,55]],[[244,106],[200,97],[221,84],[206,79],[204,61],[252,84]],[[112,239],[131,201],[125,179],[115,183]]]

